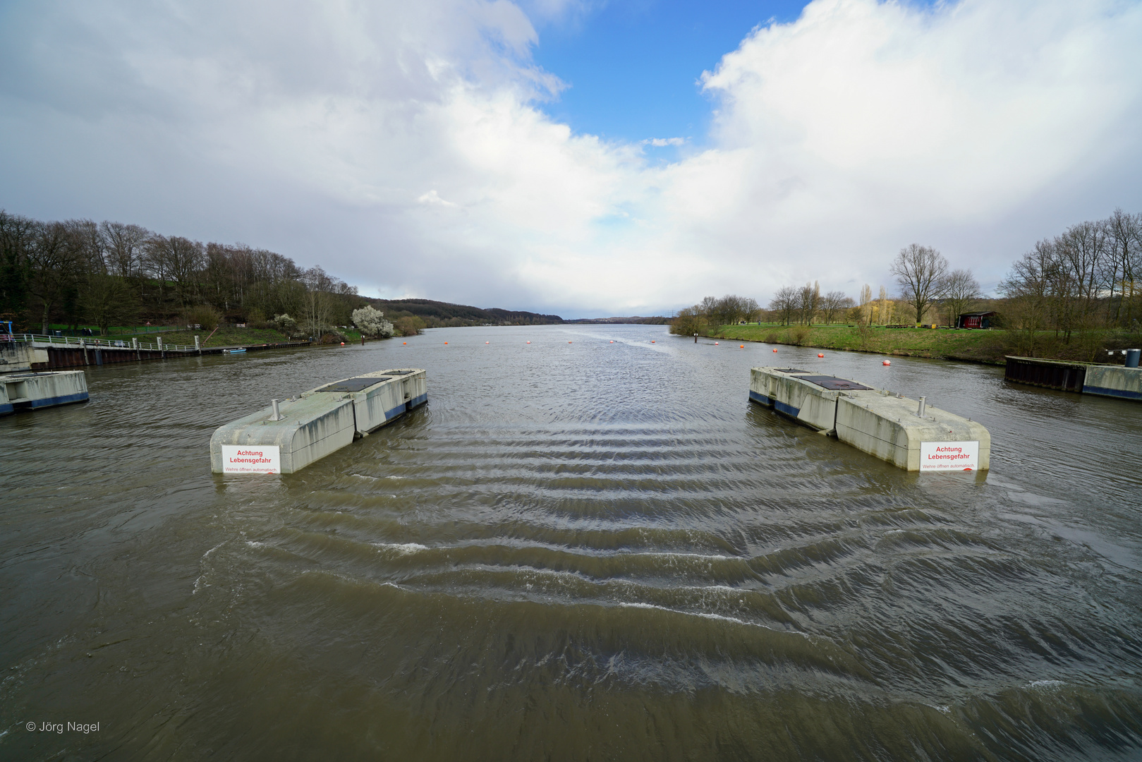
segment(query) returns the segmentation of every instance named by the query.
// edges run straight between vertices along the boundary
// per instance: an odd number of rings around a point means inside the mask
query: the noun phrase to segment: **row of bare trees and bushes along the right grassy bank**
[[[997,312],[994,324],[1054,331],[1069,343],[1075,331],[1093,328],[1137,330],[1142,318],[1142,214],[1121,209],[1097,222],[1071,225],[1060,235],[1035,244],[999,283],[1000,298],[988,299],[967,268],[952,268],[932,247],[912,243],[899,251],[890,271],[899,291],[879,295],[866,284],[856,299],[844,291],[821,294],[817,282],[783,286],[767,310],[754,299],[706,297],[678,311],[675,334],[701,334],[719,326],[765,320],[781,324],[858,326],[946,324],[988,300]],[[746,306],[742,306],[746,305]]]

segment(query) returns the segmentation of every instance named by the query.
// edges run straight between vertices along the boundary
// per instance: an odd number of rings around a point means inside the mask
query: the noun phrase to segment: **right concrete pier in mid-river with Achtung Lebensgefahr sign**
[[[749,399],[907,471],[990,466],[991,435],[982,425],[847,378],[754,368]]]

